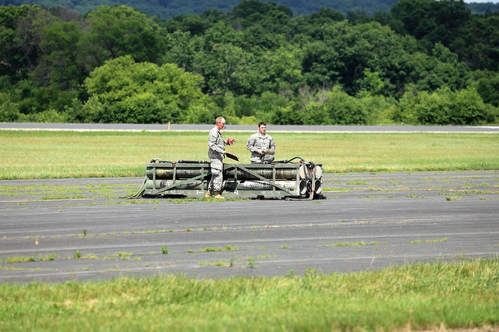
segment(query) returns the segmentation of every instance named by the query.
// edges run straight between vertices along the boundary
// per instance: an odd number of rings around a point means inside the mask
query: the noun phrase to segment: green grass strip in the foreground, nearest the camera
[[[302,277],[3,284],[0,331],[486,331],[497,330],[498,299],[497,259]]]

